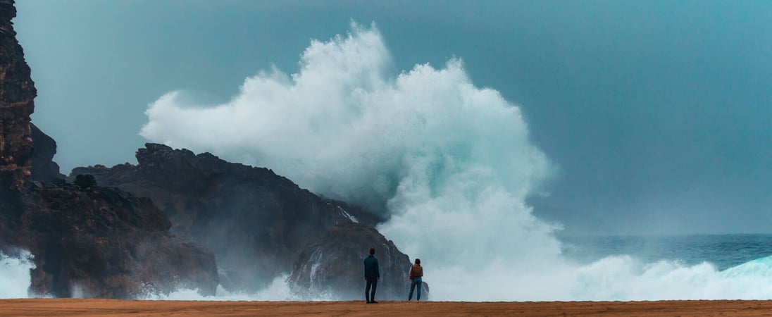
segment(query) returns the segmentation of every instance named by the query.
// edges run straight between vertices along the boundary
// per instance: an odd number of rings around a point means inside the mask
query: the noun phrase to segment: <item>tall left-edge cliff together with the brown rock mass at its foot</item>
[[[0,251],[31,251],[37,295],[131,298],[178,286],[214,294],[212,252],[174,237],[150,200],[55,181],[56,143],[30,123],[36,89],[15,14],[12,0],[0,0]]]

